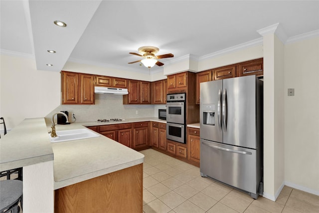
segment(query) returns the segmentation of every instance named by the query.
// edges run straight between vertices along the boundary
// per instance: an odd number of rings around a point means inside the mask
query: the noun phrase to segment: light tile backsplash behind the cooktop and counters
[[[123,104],[122,95],[95,94],[94,105],[59,105],[45,118],[51,119],[51,116],[59,111],[68,111],[70,121],[73,121],[71,115],[74,112],[76,122],[111,118],[158,117],[158,109],[166,109],[166,105],[126,105]]]

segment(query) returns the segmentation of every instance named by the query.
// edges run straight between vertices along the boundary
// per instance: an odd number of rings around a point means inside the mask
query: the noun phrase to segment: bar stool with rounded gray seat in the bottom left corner
[[[19,180],[0,181],[0,213],[19,213],[22,208],[23,184]]]

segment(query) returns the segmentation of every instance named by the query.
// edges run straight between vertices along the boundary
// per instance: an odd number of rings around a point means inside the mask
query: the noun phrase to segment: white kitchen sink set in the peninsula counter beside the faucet
[[[51,134],[49,133],[49,138],[51,143],[100,137],[100,135],[88,129],[62,130],[62,131],[56,131],[56,134],[58,137],[52,138]]]

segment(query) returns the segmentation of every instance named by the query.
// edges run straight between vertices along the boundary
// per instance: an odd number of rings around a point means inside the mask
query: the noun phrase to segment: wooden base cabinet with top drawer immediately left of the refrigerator
[[[187,127],[188,159],[200,161],[200,129]]]

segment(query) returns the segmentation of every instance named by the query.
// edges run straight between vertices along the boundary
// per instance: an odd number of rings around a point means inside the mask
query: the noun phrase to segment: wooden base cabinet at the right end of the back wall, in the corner
[[[149,146],[149,124],[150,122],[134,123],[133,149],[145,148]]]

